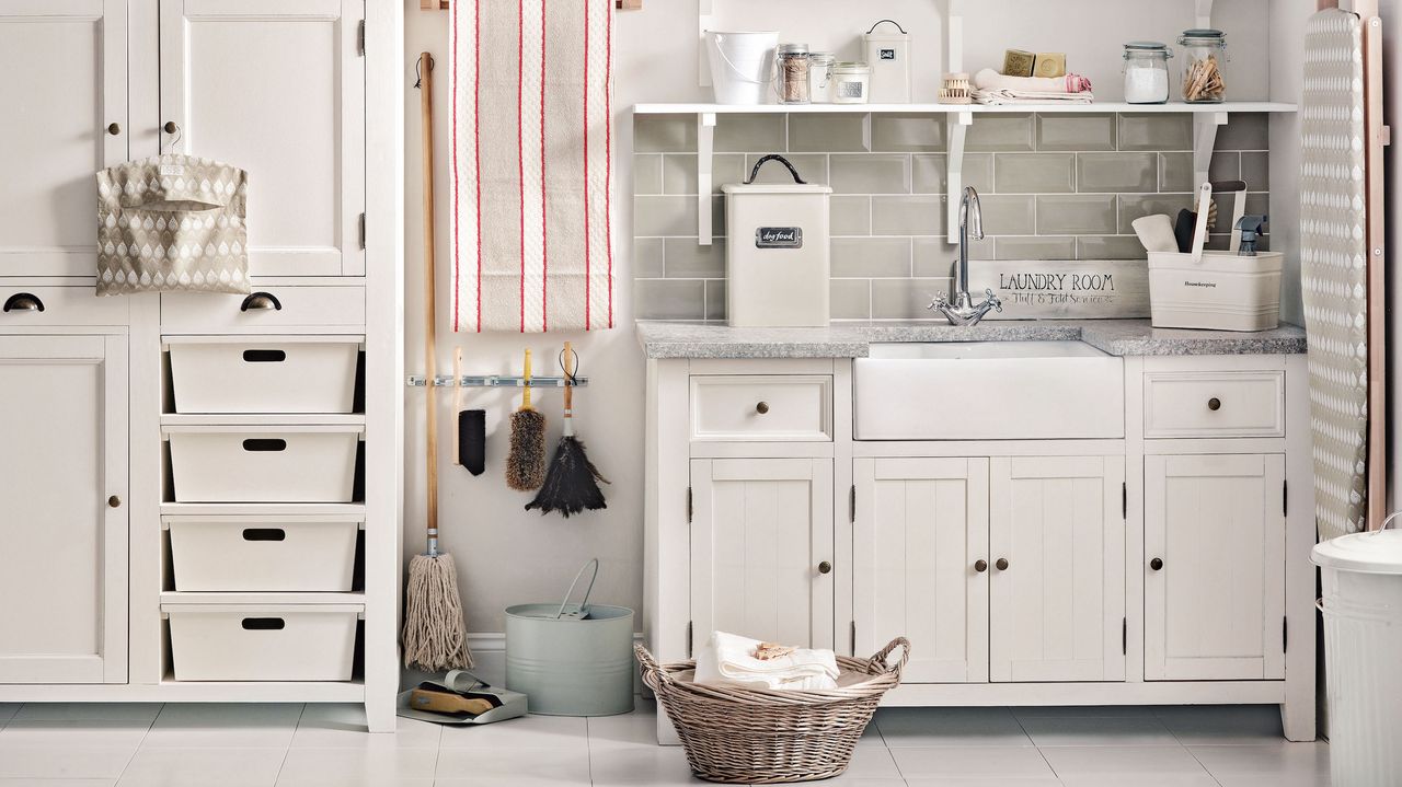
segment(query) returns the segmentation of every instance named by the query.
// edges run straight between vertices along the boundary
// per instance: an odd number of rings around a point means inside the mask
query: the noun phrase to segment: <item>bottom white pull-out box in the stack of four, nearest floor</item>
[[[349,681],[363,606],[163,604],[177,681]]]

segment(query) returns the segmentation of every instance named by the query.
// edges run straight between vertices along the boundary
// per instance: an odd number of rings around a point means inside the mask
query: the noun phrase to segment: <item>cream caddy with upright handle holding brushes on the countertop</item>
[[[1193,251],[1150,252],[1148,291],[1154,328],[1270,330],[1280,325],[1280,269],[1284,255],[1203,251],[1211,186],[1197,203]]]

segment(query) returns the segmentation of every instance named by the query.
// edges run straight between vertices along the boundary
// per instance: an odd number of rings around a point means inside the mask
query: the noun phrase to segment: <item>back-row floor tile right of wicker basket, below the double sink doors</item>
[[[892,707],[875,720],[886,745],[904,746],[1030,746],[1022,725],[1002,707]]]

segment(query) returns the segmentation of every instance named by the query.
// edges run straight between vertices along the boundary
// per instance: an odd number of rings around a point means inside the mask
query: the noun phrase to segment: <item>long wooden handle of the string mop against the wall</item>
[[[419,109],[423,116],[423,368],[428,377],[428,405],[425,406],[425,459],[428,475],[428,529],[429,539],[437,539],[437,308],[435,274],[435,202],[433,202],[433,56],[419,55]]]

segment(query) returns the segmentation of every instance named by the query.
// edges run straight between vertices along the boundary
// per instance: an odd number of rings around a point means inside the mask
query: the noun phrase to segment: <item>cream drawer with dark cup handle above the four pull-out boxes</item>
[[[257,294],[272,295],[255,298]],[[275,308],[248,308],[273,304]],[[280,308],[276,308],[280,307]],[[254,281],[254,295],[161,294],[164,333],[240,333],[293,328],[363,329],[365,287],[276,287]]]

